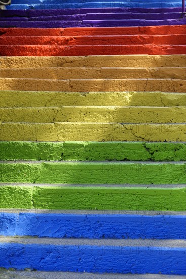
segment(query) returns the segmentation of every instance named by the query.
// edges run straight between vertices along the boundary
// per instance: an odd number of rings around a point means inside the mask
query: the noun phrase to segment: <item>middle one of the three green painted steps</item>
[[[185,183],[186,162],[20,162],[0,165],[0,182],[77,184]]]

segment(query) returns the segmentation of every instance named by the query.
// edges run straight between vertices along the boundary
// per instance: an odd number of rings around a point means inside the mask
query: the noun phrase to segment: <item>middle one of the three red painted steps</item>
[[[3,37],[1,46],[6,45],[47,45],[47,46],[72,46],[72,45],[185,45],[185,34],[173,35],[114,35],[114,36],[12,36]]]

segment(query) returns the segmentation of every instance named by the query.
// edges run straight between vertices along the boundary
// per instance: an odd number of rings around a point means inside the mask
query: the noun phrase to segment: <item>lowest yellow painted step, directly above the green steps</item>
[[[185,142],[184,124],[2,123],[1,141]]]

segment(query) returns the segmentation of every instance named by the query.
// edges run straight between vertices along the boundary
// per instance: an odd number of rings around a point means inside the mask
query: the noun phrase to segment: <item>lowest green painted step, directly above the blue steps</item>
[[[1,208],[185,211],[183,185],[11,185],[0,187]]]

